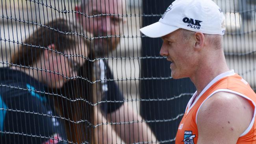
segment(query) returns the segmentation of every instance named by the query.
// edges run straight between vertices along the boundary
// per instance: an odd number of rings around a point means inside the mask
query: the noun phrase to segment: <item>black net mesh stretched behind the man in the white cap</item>
[[[256,1],[213,1],[228,66],[256,90]],[[2,0],[0,143],[174,143],[196,89],[139,31],[172,2]]]

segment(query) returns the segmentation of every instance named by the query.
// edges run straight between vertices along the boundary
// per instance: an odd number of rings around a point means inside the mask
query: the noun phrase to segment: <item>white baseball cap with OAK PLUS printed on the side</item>
[[[179,28],[212,35],[224,35],[224,15],[211,0],[175,0],[160,20],[141,28],[148,37],[162,37]]]

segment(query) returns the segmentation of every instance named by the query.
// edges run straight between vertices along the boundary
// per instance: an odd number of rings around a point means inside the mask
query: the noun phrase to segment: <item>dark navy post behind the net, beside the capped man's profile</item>
[[[173,1],[143,0],[143,14],[152,15],[164,12],[166,6],[169,6]],[[143,16],[142,26],[150,25],[158,21],[159,18],[161,18],[160,15]],[[170,77],[171,70],[168,67],[171,62],[164,58],[153,58],[160,56],[158,54],[162,45],[161,42],[161,38],[141,37],[141,57],[148,58],[140,59],[139,92],[141,99],[155,99],[156,101],[141,101],[140,114],[145,120],[151,121],[148,125],[155,133],[158,141],[173,144],[176,129],[178,129],[183,116],[182,113],[186,109],[186,103],[196,88],[189,78],[173,79]],[[172,111],[166,111],[166,109],[172,109]]]

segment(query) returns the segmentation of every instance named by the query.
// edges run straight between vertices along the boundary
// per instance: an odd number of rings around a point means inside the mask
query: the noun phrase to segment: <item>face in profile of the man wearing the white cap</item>
[[[160,55],[171,61],[171,76],[174,79],[191,77],[196,69],[196,59],[193,57],[193,41],[184,40],[182,30],[176,30],[162,37],[163,45]]]

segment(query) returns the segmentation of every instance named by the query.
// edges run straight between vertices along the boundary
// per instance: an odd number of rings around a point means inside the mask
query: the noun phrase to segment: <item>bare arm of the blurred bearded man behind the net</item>
[[[150,127],[148,127],[145,122],[142,122],[142,117],[134,111],[131,103],[128,104],[125,102],[115,112],[108,114],[108,120],[117,123],[125,123],[116,124],[113,125],[113,127],[126,143],[156,143],[155,135],[152,133]]]

